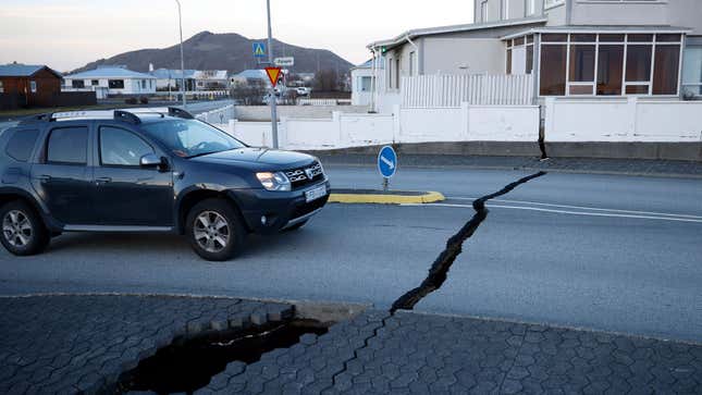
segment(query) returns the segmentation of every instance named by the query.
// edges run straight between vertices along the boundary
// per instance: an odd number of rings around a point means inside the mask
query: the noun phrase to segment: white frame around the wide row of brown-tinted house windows
[[[545,41],[543,40],[543,35],[544,34],[557,34],[557,35],[565,35],[566,40],[565,41]],[[584,35],[584,34],[593,34],[595,35],[595,41],[574,41],[571,38],[572,35]],[[668,41],[668,40],[658,40],[658,35],[677,35],[678,33],[658,33],[658,32],[646,32],[646,33],[639,33],[639,32],[565,32],[565,33],[540,33],[541,39],[539,40],[539,57],[541,57],[542,53],[542,48],[544,46],[566,46],[566,89],[564,95],[541,95],[541,70],[539,72],[539,77],[537,78],[537,86],[539,87],[539,97],[628,97],[628,96],[645,96],[645,97],[656,97],[656,98],[672,98],[672,97],[679,97],[680,96],[680,88],[681,88],[681,77],[682,77],[682,52],[685,50],[685,35],[680,33],[680,39],[679,41]],[[623,41],[603,41],[601,39],[601,36],[612,36],[612,35],[623,35],[624,40]],[[651,41],[630,41],[629,36],[630,35],[652,35]],[[570,81],[570,52],[571,48],[574,46],[578,45],[594,45],[595,46],[595,60],[594,60],[594,82],[592,85],[594,85],[592,89],[592,95],[570,95],[570,87],[571,86],[582,86],[582,85],[590,85],[591,83],[578,83],[578,82],[571,82]],[[599,81],[599,62],[600,62],[600,46],[623,46],[624,47],[624,59],[623,59],[623,70],[621,70],[621,88],[620,88],[620,94],[619,95],[598,95],[598,81]],[[628,48],[629,46],[650,46],[651,48],[651,70],[650,70],[650,75],[648,81],[630,81],[627,82],[627,58],[628,58]],[[653,94],[653,86],[654,86],[654,75],[655,75],[655,54],[656,54],[656,47],[660,46],[679,46],[680,51],[678,53],[678,84],[677,84],[677,89],[676,94],[667,94],[667,95],[654,95]],[[539,60],[541,63],[541,59]],[[646,86],[648,87],[648,94],[627,94],[627,87],[637,87],[637,86]]]

